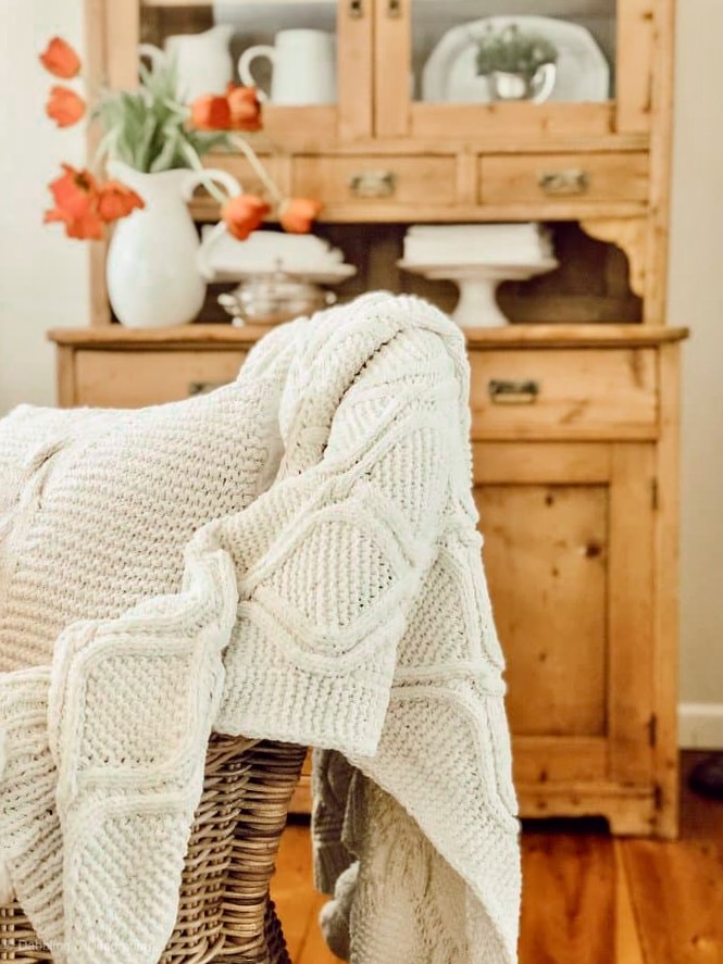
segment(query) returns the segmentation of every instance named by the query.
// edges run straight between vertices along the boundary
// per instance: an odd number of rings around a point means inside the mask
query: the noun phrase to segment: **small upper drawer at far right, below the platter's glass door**
[[[483,204],[646,201],[648,155],[533,154],[479,160]]]

